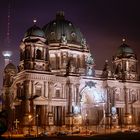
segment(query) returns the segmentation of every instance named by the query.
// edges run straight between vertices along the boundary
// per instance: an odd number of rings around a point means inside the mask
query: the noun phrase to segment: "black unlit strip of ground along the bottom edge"
[[[0,140],[24,140],[24,139],[41,139],[41,140],[140,140],[140,133],[115,133],[96,136],[50,136],[50,137],[37,137],[37,138],[3,138]]]

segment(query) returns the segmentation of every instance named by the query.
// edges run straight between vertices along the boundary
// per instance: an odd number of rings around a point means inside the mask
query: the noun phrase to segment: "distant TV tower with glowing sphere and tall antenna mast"
[[[10,47],[10,18],[11,18],[11,0],[8,3],[8,16],[7,16],[7,33],[6,33],[6,48]],[[3,51],[2,55],[4,56],[5,66],[10,63],[10,57],[12,55],[11,51]]]

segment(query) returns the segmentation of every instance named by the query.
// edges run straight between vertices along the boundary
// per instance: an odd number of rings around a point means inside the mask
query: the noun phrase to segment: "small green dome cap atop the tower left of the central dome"
[[[43,32],[43,30],[41,28],[39,28],[38,26],[36,25],[33,25],[32,27],[30,27],[24,37],[29,37],[29,36],[35,36],[35,37],[42,37],[44,38],[45,37],[45,34]]]

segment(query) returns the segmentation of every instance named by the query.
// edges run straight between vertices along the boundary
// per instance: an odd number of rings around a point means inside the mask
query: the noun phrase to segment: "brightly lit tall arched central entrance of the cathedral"
[[[84,124],[101,125],[104,119],[104,91],[96,87],[85,87],[81,92],[81,114]]]

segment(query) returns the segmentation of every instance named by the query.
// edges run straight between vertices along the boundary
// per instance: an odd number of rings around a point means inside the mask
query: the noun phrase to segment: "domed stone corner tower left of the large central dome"
[[[19,72],[23,70],[49,70],[48,47],[45,42],[44,32],[34,23],[34,25],[26,31],[20,45]]]

